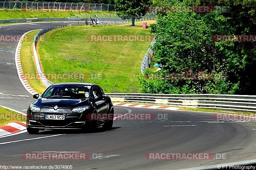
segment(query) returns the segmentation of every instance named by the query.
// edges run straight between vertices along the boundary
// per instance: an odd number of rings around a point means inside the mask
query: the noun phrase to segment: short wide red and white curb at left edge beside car
[[[7,125],[0,126],[0,137],[13,133],[18,133],[26,129],[27,128],[25,122],[13,121],[11,123],[8,123]]]

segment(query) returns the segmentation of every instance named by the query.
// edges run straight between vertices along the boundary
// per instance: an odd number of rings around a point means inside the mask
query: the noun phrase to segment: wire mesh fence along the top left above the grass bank
[[[114,4],[38,1],[0,1],[0,8],[24,11],[115,11]]]

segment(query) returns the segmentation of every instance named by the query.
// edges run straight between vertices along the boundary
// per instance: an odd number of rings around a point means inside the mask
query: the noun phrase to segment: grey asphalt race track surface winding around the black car
[[[67,23],[34,23],[1,26],[0,34],[23,33]],[[18,42],[0,42],[0,105],[26,112],[34,101],[18,78],[14,51]],[[13,52],[12,52],[13,51]],[[27,132],[0,138],[0,165],[72,165],[73,169],[181,169],[256,159],[256,122],[218,122],[212,114],[147,108],[114,107],[115,113],[167,114],[168,120],[115,120],[113,129],[95,133],[81,131]],[[186,126],[185,126],[186,125]],[[61,134],[59,136],[53,136]],[[46,137],[33,139],[38,137]],[[33,139],[33,140],[25,140]],[[16,142],[13,142],[16,141]],[[11,142],[11,143],[5,143]],[[102,159],[26,160],[22,153],[81,152],[102,154]],[[224,153],[226,159],[148,160],[147,153]]]

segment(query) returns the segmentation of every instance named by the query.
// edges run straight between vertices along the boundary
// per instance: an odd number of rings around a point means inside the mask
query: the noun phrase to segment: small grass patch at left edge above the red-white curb
[[[26,122],[26,116],[0,107],[0,126],[6,125],[12,121]]]

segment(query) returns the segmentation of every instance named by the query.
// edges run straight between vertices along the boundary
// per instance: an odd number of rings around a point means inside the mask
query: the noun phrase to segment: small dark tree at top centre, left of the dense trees
[[[150,0],[115,0],[117,15],[124,19],[132,19],[132,26],[136,18],[144,16],[146,7],[150,5]]]

